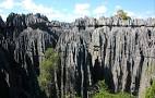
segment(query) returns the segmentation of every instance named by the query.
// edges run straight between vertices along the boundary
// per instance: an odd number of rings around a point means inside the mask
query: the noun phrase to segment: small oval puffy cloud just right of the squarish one
[[[105,5],[97,7],[94,11],[93,14],[95,16],[99,17],[103,16],[107,12],[107,8]]]

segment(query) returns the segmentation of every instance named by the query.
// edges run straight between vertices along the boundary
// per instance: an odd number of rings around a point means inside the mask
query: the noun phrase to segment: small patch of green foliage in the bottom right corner
[[[155,82],[146,89],[145,98],[155,98]]]

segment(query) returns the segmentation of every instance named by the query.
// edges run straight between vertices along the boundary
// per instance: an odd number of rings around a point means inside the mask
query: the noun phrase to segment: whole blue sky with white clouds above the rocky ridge
[[[41,13],[50,21],[72,22],[83,16],[111,16],[123,9],[132,17],[155,17],[155,0],[0,0],[0,15]]]

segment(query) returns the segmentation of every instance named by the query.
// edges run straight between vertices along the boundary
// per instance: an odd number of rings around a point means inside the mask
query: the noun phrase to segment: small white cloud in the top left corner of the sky
[[[3,0],[2,3],[0,3],[0,8],[2,9],[12,9],[14,7],[14,1],[13,0]]]

